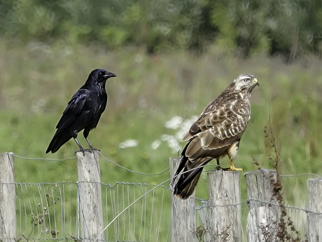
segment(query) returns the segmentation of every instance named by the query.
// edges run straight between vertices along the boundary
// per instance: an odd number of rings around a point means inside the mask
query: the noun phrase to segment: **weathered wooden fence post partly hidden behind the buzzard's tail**
[[[174,176],[179,158],[170,158],[170,175]],[[195,192],[192,194],[195,196]],[[172,242],[196,241],[195,199],[181,200],[172,196]]]

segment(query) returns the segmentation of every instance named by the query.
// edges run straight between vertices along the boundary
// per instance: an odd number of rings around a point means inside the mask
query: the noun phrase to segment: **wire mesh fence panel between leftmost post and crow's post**
[[[76,183],[16,183],[16,196],[19,239],[79,237]]]

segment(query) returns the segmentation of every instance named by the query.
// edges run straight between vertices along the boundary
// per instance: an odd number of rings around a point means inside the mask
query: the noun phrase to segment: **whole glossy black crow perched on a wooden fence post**
[[[87,139],[90,130],[96,128],[99,118],[105,110],[107,103],[107,94],[105,90],[106,80],[116,76],[112,72],[105,69],[94,69],[90,72],[85,84],[73,95],[66,109],[62,114],[62,118],[57,123],[57,130],[52,137],[46,153],[55,153],[67,141],[73,137],[78,144],[80,152],[85,152],[77,135],[80,130],[90,146],[90,151],[94,150],[92,144]]]

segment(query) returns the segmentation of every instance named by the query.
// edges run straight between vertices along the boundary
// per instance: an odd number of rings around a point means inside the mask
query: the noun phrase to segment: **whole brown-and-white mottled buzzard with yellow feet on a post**
[[[172,184],[178,180],[174,195],[188,199],[195,190],[202,169],[212,159],[217,160],[220,168],[219,160],[227,154],[230,159],[228,170],[242,170],[235,168],[233,161],[237,156],[241,135],[251,119],[250,98],[255,86],[259,86],[255,76],[238,76],[193,123],[183,137],[188,142],[183,148],[179,168],[172,180]]]

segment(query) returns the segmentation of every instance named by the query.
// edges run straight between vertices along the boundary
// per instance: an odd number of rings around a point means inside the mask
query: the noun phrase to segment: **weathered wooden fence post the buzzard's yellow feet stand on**
[[[208,173],[209,221],[211,241],[241,241],[241,194],[237,171]]]

